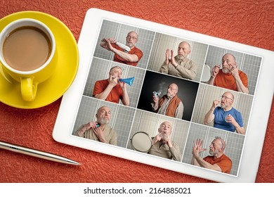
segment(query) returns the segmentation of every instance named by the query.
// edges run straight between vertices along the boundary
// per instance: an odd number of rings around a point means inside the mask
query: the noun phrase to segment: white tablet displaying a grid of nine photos
[[[255,181],[273,51],[96,8],[78,47],[56,141],[216,182]]]

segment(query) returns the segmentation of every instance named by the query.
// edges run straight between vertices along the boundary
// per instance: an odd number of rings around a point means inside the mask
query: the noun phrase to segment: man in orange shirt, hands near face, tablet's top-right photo
[[[226,53],[222,58],[222,65],[223,68],[221,71],[220,65],[215,65],[214,68],[212,68],[212,75],[207,84],[248,94],[247,75],[241,70],[238,70],[235,56]]]

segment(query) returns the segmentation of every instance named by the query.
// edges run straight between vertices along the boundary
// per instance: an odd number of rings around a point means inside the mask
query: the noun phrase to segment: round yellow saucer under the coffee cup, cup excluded
[[[72,32],[57,18],[37,11],[13,13],[0,20],[0,31],[13,20],[34,18],[45,23],[56,38],[58,65],[51,78],[38,84],[37,96],[34,101],[23,101],[20,84],[15,82],[4,70],[0,63],[0,101],[15,108],[40,108],[63,96],[72,84],[77,74],[79,53]]]

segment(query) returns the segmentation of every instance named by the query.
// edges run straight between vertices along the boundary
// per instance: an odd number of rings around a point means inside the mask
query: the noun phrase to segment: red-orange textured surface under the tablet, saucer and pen
[[[273,0],[231,3],[219,0],[1,0],[0,18],[18,11],[48,13],[63,21],[78,41],[89,8],[101,8],[274,51]],[[0,102],[0,140],[60,154],[82,165],[63,165],[0,150],[0,182],[211,182],[54,141],[51,135],[60,102],[61,98],[49,106],[32,110]],[[256,182],[274,182],[273,113],[274,103]]]

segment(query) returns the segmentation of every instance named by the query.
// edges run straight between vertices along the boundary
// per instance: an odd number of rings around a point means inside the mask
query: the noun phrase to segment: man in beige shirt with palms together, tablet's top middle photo
[[[174,75],[176,77],[182,77],[189,80],[194,80],[197,67],[193,61],[188,59],[190,54],[190,44],[188,42],[181,42],[178,46],[178,55],[174,56],[174,51],[171,50],[171,55],[169,54],[169,49],[166,51],[166,60],[162,64],[159,72]]]

